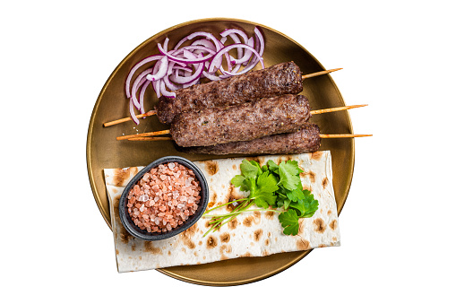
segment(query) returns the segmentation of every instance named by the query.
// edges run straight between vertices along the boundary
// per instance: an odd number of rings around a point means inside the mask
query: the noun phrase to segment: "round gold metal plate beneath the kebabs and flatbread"
[[[99,206],[99,211],[111,229],[108,195],[103,178],[104,168],[146,165],[166,155],[184,156],[191,161],[220,158],[177,152],[172,142],[117,142],[116,136],[118,135],[168,128],[168,126],[160,124],[157,117],[148,117],[143,120],[140,118],[141,124],[139,126],[130,121],[116,126],[103,127],[105,122],[128,116],[128,100],[125,97],[124,87],[125,78],[130,69],[145,56],[159,54],[157,43],[162,43],[166,37],[170,39],[171,43],[176,43],[187,34],[197,30],[218,34],[228,28],[240,28],[252,36],[255,26],[260,27],[264,35],[266,47],[263,58],[266,66],[294,61],[300,66],[303,74],[324,70],[323,65],[305,48],[277,30],[254,22],[217,18],[185,22],[159,32],[134,48],[109,76],[108,81],[99,93],[99,98],[90,117],[87,135],[87,169],[90,186]],[[345,106],[340,91],[330,75],[306,79],[303,94],[310,100],[312,109]],[[157,98],[153,91],[146,91],[146,110],[152,109],[155,102],[157,102]],[[351,121],[347,111],[316,115],[312,117],[311,121],[320,126],[322,134],[352,133]],[[321,150],[331,151],[333,186],[337,209],[340,214],[353,176],[354,140],[352,138],[323,139]],[[259,281],[273,274],[278,274],[296,264],[310,251],[264,257],[242,257],[206,265],[168,267],[158,271],[185,282],[202,285],[238,285]]]

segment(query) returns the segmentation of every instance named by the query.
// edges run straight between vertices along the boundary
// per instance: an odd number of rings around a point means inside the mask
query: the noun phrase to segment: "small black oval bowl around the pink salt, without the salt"
[[[127,201],[128,201],[128,193],[130,192],[130,189],[136,185],[136,182],[142,178],[144,174],[149,172],[152,168],[158,167],[162,163],[168,163],[168,162],[177,162],[183,166],[185,166],[188,169],[192,169],[194,171],[194,175],[196,179],[200,182],[200,187],[201,187],[201,200],[200,203],[198,204],[198,209],[196,212],[190,216],[186,221],[181,226],[176,227],[176,229],[167,231],[167,232],[148,232],[147,230],[142,230],[138,226],[136,226],[130,217],[130,214],[128,214],[128,207],[127,207]],[[138,174],[130,180],[128,185],[126,185],[124,192],[120,196],[120,202],[119,202],[119,214],[120,214],[120,221],[122,221],[122,224],[125,227],[125,230],[128,231],[133,237],[138,238],[138,239],[144,239],[144,240],[160,240],[160,239],[168,239],[171,237],[174,237],[175,235],[187,230],[188,228],[192,227],[198,219],[201,218],[202,213],[206,210],[206,206],[209,201],[209,187],[206,178],[202,174],[201,169],[196,167],[196,165],[192,161],[188,161],[183,157],[179,156],[166,156],[158,159],[157,161],[151,162],[147,167],[142,169]]]

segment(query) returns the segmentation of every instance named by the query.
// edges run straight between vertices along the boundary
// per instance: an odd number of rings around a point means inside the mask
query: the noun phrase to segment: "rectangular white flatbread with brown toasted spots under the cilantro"
[[[210,187],[208,207],[225,204],[245,193],[230,184],[240,174],[239,165],[245,158],[195,161],[202,169]],[[158,241],[133,238],[122,225],[118,204],[125,185],[143,167],[104,169],[119,273],[162,268],[174,265],[198,265],[241,256],[269,256],[281,252],[340,246],[337,205],[332,187],[331,152],[273,155],[246,158],[258,161],[294,160],[301,169],[301,180],[319,202],[312,218],[299,220],[297,236],[283,234],[278,213],[249,212],[222,226],[220,230],[202,235],[210,229],[210,218],[201,218],[185,232]],[[257,209],[257,207],[255,207]],[[213,214],[228,213],[221,207]]]

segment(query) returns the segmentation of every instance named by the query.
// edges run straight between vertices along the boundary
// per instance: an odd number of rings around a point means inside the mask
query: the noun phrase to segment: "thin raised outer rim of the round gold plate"
[[[104,92],[107,90],[108,84],[112,81],[112,79],[116,75],[117,71],[124,65],[124,63],[131,56],[133,56],[133,54],[138,49],[142,48],[144,45],[148,44],[152,39],[156,39],[157,37],[159,37],[163,33],[166,33],[166,32],[168,32],[170,30],[175,30],[177,28],[182,28],[182,27],[194,24],[194,23],[200,23],[200,22],[244,22],[244,23],[252,24],[254,26],[258,26],[258,27],[267,29],[267,30],[271,30],[271,31],[279,34],[280,36],[292,41],[299,48],[302,48],[309,56],[311,56],[314,59],[314,61],[318,65],[320,65],[323,69],[325,69],[324,66],[322,65],[322,63],[320,63],[320,61],[311,52],[309,52],[306,48],[304,48],[295,39],[291,39],[287,35],[285,35],[284,33],[280,32],[279,30],[274,30],[271,27],[263,25],[261,23],[251,22],[251,21],[238,19],[238,18],[213,17],[213,18],[195,19],[195,20],[188,21],[188,22],[181,22],[181,23],[173,25],[173,26],[171,26],[171,27],[169,27],[169,28],[167,28],[165,30],[160,30],[158,33],[152,35],[150,38],[145,39],[144,41],[142,41],[141,44],[139,44],[136,48],[133,48],[133,50],[130,51],[118,65],[116,65],[116,68],[109,75],[108,80],[103,85],[103,88],[101,89],[101,91],[99,91],[99,96],[98,96],[98,98],[97,98],[97,100],[95,102],[95,105],[93,107],[92,113],[90,115],[90,123],[89,123],[89,128],[88,128],[88,131],[87,131],[87,138],[86,138],[86,165],[87,165],[87,170],[88,170],[88,175],[89,175],[90,188],[91,188],[91,191],[92,191],[92,195],[94,195],[95,201],[97,203],[97,206],[98,206],[98,209],[99,209],[99,213],[101,213],[101,216],[103,217],[103,219],[108,224],[108,227],[109,227],[110,230],[112,230],[112,223],[110,221],[108,221],[108,217],[102,212],[103,208],[102,208],[101,203],[100,203],[101,199],[100,199],[100,196],[99,196],[99,190],[97,189],[97,187],[95,185],[94,172],[93,172],[93,170],[90,167],[90,163],[91,163],[91,156],[90,156],[91,142],[90,142],[90,138],[91,138],[91,135],[93,134],[93,128],[95,126],[94,117],[95,117],[95,115],[97,113],[97,110],[99,109],[99,104],[100,104],[101,99],[102,99],[102,97],[104,95]],[[342,103],[344,105],[346,105],[345,100],[343,99],[343,96],[342,96],[342,94],[341,94],[341,92],[339,90],[339,87],[336,85],[336,83],[332,79],[331,74],[327,74],[327,76],[329,76],[330,82],[332,83],[332,85],[336,89],[337,94],[340,96],[340,100],[342,101]],[[353,125],[352,125],[352,121],[351,121],[351,117],[349,116],[349,113],[347,113],[347,117],[348,117],[348,128],[349,128],[350,132],[353,133]],[[338,208],[337,208],[338,209],[337,210],[338,216],[340,216],[340,213],[341,213],[341,211],[342,211],[342,209],[343,209],[343,207],[344,207],[344,205],[345,205],[345,203],[347,201],[348,192],[349,192],[349,190],[351,188],[351,183],[352,183],[352,180],[353,180],[353,174],[354,174],[354,169],[355,169],[355,141],[353,141],[353,140],[351,140],[351,149],[352,149],[352,156],[351,156],[351,160],[350,160],[351,168],[350,168],[349,180],[347,180],[348,187],[346,187],[346,189],[343,192],[342,197],[340,198],[340,204],[337,204],[338,202],[336,202],[336,204],[338,205]],[[339,207],[339,205],[340,205],[340,207]],[[166,274],[166,275],[168,275],[168,276],[170,276],[172,278],[175,278],[175,279],[183,281],[183,282],[191,282],[191,283],[194,283],[194,284],[206,285],[206,286],[235,286],[235,285],[242,285],[242,284],[251,283],[251,282],[258,282],[258,281],[267,279],[267,278],[269,278],[269,277],[271,277],[271,276],[273,276],[275,274],[280,274],[282,271],[287,270],[292,265],[297,264],[297,262],[302,260],[312,250],[313,249],[309,249],[309,250],[305,250],[305,251],[297,251],[297,253],[299,253],[299,254],[297,254],[297,256],[295,258],[291,259],[290,261],[288,261],[288,263],[282,265],[281,267],[278,267],[277,269],[275,269],[271,273],[262,274],[260,276],[252,277],[252,278],[249,278],[249,279],[236,280],[236,281],[230,281],[230,282],[210,282],[210,281],[189,279],[189,278],[187,278],[187,277],[185,277],[183,275],[178,275],[178,274],[173,273],[172,270],[169,270],[168,268],[159,268],[159,269],[156,269],[156,270],[159,273]],[[280,254],[277,254],[277,255],[280,255]],[[239,258],[249,258],[249,257],[239,257]],[[261,257],[259,257],[259,258],[261,258]],[[213,262],[213,263],[218,263],[218,262]]]

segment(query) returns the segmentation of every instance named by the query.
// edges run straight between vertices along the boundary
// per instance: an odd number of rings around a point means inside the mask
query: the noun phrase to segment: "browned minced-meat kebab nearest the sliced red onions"
[[[226,107],[284,94],[303,91],[301,70],[294,62],[196,84],[176,90],[176,98],[161,96],[157,105],[159,121],[170,124],[177,114],[194,109]]]

